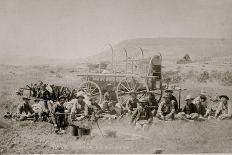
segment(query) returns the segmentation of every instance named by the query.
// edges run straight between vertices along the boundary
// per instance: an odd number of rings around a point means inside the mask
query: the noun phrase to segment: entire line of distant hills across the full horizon
[[[163,62],[176,62],[185,54],[191,59],[201,57],[226,57],[232,56],[232,39],[201,39],[201,38],[137,38],[124,40],[113,46],[114,61],[125,60],[127,50],[128,57],[141,57],[142,48],[144,56],[151,56],[160,52]],[[2,55],[0,64],[12,65],[40,65],[40,64],[63,64],[77,65],[79,63],[99,63],[100,61],[111,61],[110,48],[85,59],[51,59],[46,57],[24,57],[20,55]]]

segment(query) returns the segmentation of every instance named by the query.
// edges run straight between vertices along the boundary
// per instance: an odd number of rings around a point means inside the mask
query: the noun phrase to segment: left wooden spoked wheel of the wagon
[[[98,104],[102,101],[102,92],[98,84],[93,81],[85,81],[80,85],[78,91],[83,91],[88,97],[96,97]]]

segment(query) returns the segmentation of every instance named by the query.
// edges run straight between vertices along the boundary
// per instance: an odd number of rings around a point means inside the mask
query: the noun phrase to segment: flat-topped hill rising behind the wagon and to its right
[[[114,46],[114,55],[117,60],[124,59],[123,48],[126,48],[130,57],[141,55],[139,48],[142,48],[145,56],[160,52],[164,61],[176,61],[185,54],[189,54],[194,59],[232,56],[232,39],[138,38],[125,40]],[[85,61],[99,62],[103,60],[111,60],[110,50],[88,57]]]

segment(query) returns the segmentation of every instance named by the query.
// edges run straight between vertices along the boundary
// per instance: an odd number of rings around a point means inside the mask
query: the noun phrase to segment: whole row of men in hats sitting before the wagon
[[[23,97],[23,103],[17,108],[16,117],[18,120],[35,118],[35,120],[50,121],[56,130],[64,130],[71,120],[83,120],[101,118],[106,115],[114,115],[119,118],[127,115],[130,117],[130,124],[137,125],[151,124],[157,120],[205,120],[210,117],[216,119],[230,119],[232,117],[229,97],[219,96],[220,103],[216,110],[212,109],[205,90],[201,90],[198,97],[186,96],[186,103],[181,109],[173,95],[172,89],[165,90],[160,103],[155,98],[154,93],[147,92],[146,97],[138,99],[136,92],[130,92],[130,98],[125,105],[118,103],[116,93],[112,85],[107,86],[104,94],[104,101],[101,105],[96,102],[97,98],[86,96],[79,92],[71,101],[67,101],[66,96],[60,96],[58,101],[53,102],[49,94],[43,99],[35,99],[35,104],[30,105],[30,98]],[[89,103],[86,103],[86,100]],[[70,117],[69,117],[70,116]]]

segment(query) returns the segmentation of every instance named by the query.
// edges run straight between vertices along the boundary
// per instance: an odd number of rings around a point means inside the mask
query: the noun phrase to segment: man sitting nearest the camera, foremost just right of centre
[[[131,124],[136,124],[136,126],[151,125],[153,120],[153,115],[151,113],[151,108],[148,106],[148,100],[142,99],[139,101],[138,106],[131,118]]]

